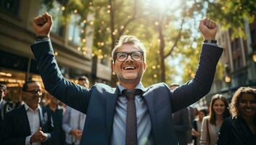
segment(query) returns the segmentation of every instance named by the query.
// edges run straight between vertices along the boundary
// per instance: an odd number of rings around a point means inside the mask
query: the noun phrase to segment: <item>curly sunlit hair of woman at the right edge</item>
[[[238,106],[243,94],[252,94],[256,98],[256,89],[250,87],[240,87],[238,90],[236,90],[231,101],[231,114],[233,117],[239,115]]]

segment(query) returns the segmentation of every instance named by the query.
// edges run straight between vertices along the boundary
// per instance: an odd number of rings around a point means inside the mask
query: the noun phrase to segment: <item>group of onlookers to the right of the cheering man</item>
[[[209,109],[181,109],[173,114],[173,123],[180,145],[255,144],[256,89],[239,88],[230,103],[215,94]]]

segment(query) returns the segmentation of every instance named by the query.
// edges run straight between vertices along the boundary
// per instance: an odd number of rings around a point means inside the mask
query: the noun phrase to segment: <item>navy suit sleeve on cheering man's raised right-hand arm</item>
[[[199,57],[197,72],[192,80],[170,91],[170,103],[173,112],[201,99],[208,94],[212,86],[216,65],[223,49],[204,44]]]

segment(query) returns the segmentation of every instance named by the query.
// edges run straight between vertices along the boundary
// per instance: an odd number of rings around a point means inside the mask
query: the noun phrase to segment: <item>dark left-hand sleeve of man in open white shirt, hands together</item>
[[[25,144],[25,138],[27,136],[22,136],[22,137],[15,137],[13,133],[14,128],[14,123],[15,119],[12,118],[12,115],[7,113],[7,115],[4,117],[4,124],[3,128],[1,130],[1,139],[2,139],[2,144],[3,145],[24,145]]]

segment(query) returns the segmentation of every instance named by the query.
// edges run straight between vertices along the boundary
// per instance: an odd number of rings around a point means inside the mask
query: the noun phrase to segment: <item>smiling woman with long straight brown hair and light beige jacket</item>
[[[216,94],[212,96],[210,102],[209,116],[202,120],[202,135],[200,144],[215,145],[218,140],[218,133],[223,120],[230,116],[228,101],[223,95]]]

